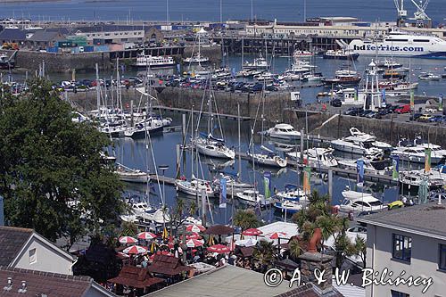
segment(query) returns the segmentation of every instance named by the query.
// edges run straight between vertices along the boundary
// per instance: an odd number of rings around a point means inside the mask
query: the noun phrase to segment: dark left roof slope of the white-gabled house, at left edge
[[[33,230],[19,227],[0,227],[0,266],[8,266],[28,242]]]

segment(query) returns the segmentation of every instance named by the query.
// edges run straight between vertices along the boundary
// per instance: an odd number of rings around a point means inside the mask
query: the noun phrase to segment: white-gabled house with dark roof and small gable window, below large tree
[[[32,229],[0,227],[0,251],[0,267],[72,275],[73,257]]]

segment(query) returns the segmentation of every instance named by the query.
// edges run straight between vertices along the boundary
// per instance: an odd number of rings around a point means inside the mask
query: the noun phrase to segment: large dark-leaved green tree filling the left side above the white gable
[[[0,192],[12,226],[31,227],[69,248],[118,222],[122,185],[100,156],[110,144],[92,123],[71,120],[72,108],[45,80],[0,103]]]

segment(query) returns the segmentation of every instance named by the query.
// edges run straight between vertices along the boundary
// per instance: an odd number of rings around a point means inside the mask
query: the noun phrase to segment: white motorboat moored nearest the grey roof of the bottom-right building
[[[343,191],[343,198],[340,210],[345,212],[376,211],[384,209],[383,202],[372,194],[351,191],[347,188]]]

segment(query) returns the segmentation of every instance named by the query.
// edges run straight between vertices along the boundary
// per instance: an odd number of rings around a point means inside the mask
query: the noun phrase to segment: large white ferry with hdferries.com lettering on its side
[[[379,41],[354,39],[348,48],[361,55],[446,59],[446,41],[442,38],[399,31]]]

